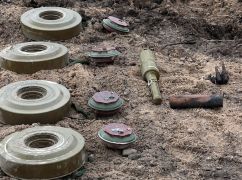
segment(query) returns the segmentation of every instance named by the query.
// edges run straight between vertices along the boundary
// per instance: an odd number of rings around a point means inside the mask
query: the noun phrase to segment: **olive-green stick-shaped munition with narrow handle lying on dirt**
[[[151,50],[145,49],[140,53],[141,73],[148,82],[152,94],[152,102],[161,104],[161,93],[157,81],[160,78],[159,69],[155,64],[155,56]]]

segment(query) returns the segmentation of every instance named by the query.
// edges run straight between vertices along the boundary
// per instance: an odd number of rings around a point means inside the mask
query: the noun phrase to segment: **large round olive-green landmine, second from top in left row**
[[[19,74],[60,69],[68,63],[68,49],[51,42],[15,44],[0,52],[1,67]]]

